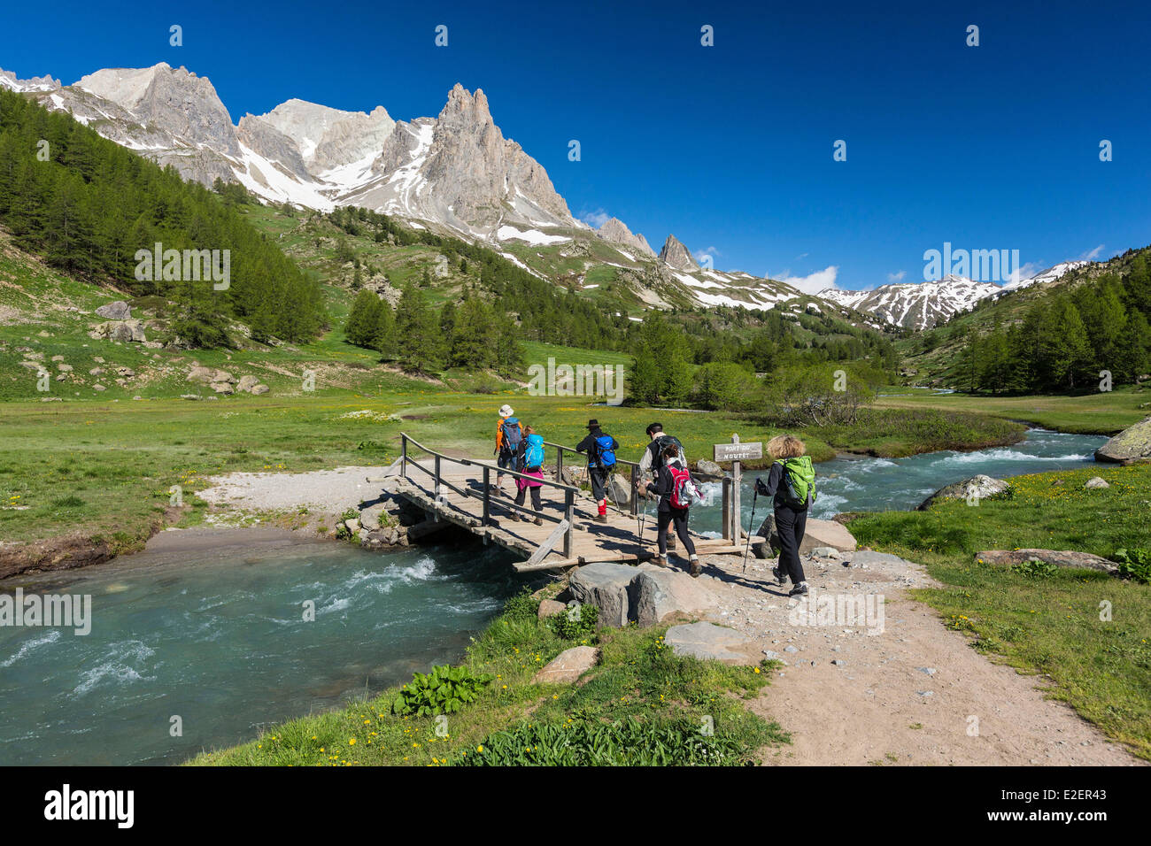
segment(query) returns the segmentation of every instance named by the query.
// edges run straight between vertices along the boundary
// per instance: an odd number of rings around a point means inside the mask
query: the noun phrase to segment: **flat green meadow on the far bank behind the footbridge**
[[[402,430],[449,452],[487,455],[495,409],[504,402],[558,443],[577,443],[588,418],[599,416],[619,440],[620,457],[633,460],[647,447],[643,429],[655,417],[648,409],[605,411],[556,397],[444,391],[363,398],[237,395],[216,403],[6,403],[0,419],[0,567],[12,576],[102,563],[139,551],[169,526],[231,520],[235,510],[228,517],[196,495],[209,487],[212,477],[285,473],[304,480],[302,474],[334,467],[357,467],[366,475],[397,457]],[[904,432],[892,432],[889,418],[885,428],[840,428],[829,430],[828,440],[821,432],[801,434],[813,458],[829,460],[845,448],[874,455],[894,454],[895,444],[899,454],[938,449],[940,433],[947,443],[976,445],[1014,442],[1022,432],[994,418],[932,414],[908,414],[918,422]],[[693,457],[710,457],[711,444],[729,442],[732,433],[745,441],[767,441],[780,432],[721,412],[658,412],[655,419],[679,436]],[[973,421],[983,421],[985,432],[971,433]],[[948,422],[961,427],[951,430]],[[262,513],[249,518],[319,532],[320,517],[331,527],[333,517],[357,503],[331,513],[312,513],[304,498],[291,504],[295,508],[279,511],[260,509]],[[308,513],[300,513],[302,508]],[[237,525],[244,525],[243,519]],[[29,564],[26,550],[36,543],[47,554]]]

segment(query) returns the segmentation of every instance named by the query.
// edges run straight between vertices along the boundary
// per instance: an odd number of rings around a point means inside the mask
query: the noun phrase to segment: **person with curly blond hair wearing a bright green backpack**
[[[768,473],[768,481],[755,480],[755,490],[761,496],[775,497],[776,532],[779,534],[779,563],[771,572],[783,585],[791,577],[788,596],[807,594],[807,579],[799,561],[799,547],[803,542],[807,526],[807,510],[815,502],[815,468],[811,457],[805,455],[803,442],[792,435],[777,435],[768,441],[768,455],[775,463]]]

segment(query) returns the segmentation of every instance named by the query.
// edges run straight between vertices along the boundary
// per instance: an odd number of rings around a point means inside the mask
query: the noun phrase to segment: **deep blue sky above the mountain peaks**
[[[931,6],[21,3],[0,68],[183,64],[234,122],[291,97],[412,119],[482,87],[577,216],[813,289],[922,281],[944,242],[1036,269],[1151,243],[1149,6]]]

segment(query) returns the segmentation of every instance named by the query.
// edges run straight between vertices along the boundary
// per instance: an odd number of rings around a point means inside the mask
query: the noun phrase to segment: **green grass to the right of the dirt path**
[[[1092,475],[1111,488],[1084,490]],[[1054,699],[1151,759],[1151,586],[1090,571],[1036,579],[976,559],[986,549],[1151,549],[1151,466],[1041,473],[1012,486],[1008,500],[864,515],[851,531],[860,543],[924,562],[945,587],[917,596],[946,625],[968,632],[980,651],[1050,679]],[[1111,620],[1100,619],[1103,602]]]

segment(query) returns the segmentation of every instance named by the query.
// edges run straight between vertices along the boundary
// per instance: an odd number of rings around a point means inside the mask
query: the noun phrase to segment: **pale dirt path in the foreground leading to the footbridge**
[[[1037,677],[993,664],[909,599],[907,588],[935,584],[920,565],[863,557],[883,561],[820,566],[805,558],[803,566],[816,597],[883,595],[882,625],[878,615],[855,626],[810,625],[818,620],[794,612],[788,619],[796,601],[776,586],[772,562],[753,558],[741,576],[737,556],[706,559],[701,580],[721,601],[712,616],[787,663],[750,704],[792,734],[792,745],[768,753],[765,763],[1145,763],[1045,699]]]

